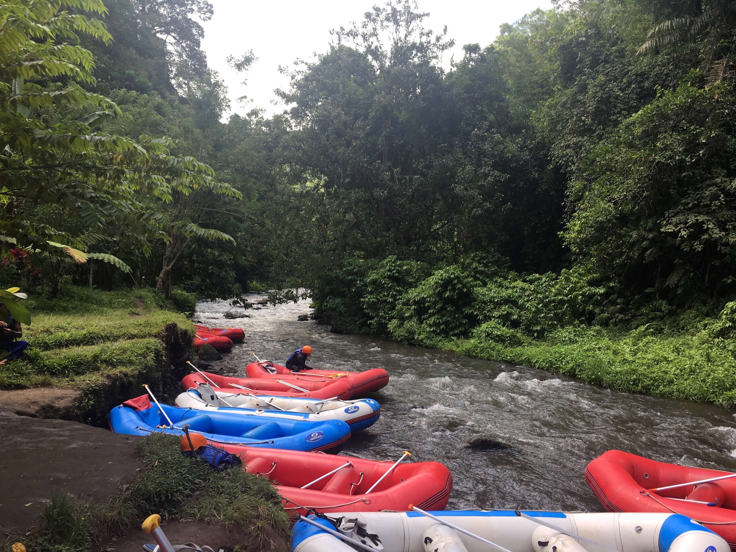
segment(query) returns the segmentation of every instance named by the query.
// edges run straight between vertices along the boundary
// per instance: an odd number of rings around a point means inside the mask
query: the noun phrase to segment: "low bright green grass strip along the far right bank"
[[[707,329],[659,333],[569,327],[544,340],[503,344],[483,337],[442,340],[445,350],[542,368],[623,392],[736,403],[736,347]]]

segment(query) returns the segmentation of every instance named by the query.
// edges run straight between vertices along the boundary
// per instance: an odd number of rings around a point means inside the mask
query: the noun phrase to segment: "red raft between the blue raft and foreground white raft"
[[[453,476],[439,462],[399,464],[365,494],[394,464],[393,461],[366,460],[295,450],[266,450],[237,445],[217,445],[240,456],[250,473],[273,481],[287,510],[307,515],[318,512],[378,512],[408,509],[442,510],[453,488]],[[347,463],[350,465],[346,465]],[[330,475],[327,475],[330,474]],[[302,486],[327,477],[310,485]]]

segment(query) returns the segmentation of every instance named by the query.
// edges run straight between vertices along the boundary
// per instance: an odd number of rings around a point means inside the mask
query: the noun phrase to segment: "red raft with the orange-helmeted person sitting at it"
[[[366,393],[378,391],[389,383],[389,372],[383,368],[372,368],[365,372],[338,372],[336,370],[304,370],[302,372],[291,372],[285,366],[271,364],[270,362],[253,362],[245,367],[245,373],[249,378],[271,378],[297,383],[300,381],[328,381],[345,379],[350,381],[350,392],[352,397],[362,397]],[[301,383],[298,386],[303,387]]]

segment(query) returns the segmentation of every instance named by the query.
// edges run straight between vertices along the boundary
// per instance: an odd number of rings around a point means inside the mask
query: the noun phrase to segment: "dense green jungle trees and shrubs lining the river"
[[[735,1],[559,2],[445,68],[451,34],[392,0],[295,63],[282,113],[227,121],[212,10],[0,7],[0,283],[301,286],[417,344],[732,337]]]

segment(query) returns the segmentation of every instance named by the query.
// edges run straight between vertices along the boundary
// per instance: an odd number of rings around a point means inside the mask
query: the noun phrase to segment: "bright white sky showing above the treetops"
[[[286,88],[289,79],[278,66],[292,66],[294,60],[311,59],[315,52],[325,52],[330,43],[330,29],[347,27],[360,21],[363,13],[383,0],[210,0],[214,15],[204,23],[202,47],[211,68],[220,74],[229,89],[233,113],[245,113],[262,107],[268,115],[283,110],[274,105],[275,88]],[[450,55],[462,56],[462,45],[487,46],[498,35],[498,27],[522,17],[537,7],[548,9],[550,0],[419,0],[419,8],[429,12],[425,26],[435,32],[447,25],[447,35],[456,46]],[[225,59],[252,49],[258,61],[242,77],[227,66]],[[252,102],[243,105],[237,98],[247,95]]]

